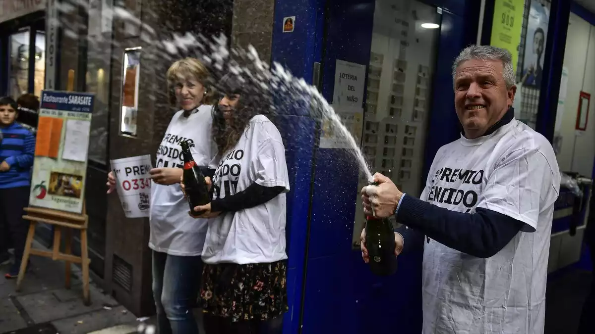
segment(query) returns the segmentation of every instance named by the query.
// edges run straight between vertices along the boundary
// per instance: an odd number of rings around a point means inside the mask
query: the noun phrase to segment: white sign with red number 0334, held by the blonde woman
[[[111,160],[111,166],[126,218],[148,217],[151,204],[151,156]]]

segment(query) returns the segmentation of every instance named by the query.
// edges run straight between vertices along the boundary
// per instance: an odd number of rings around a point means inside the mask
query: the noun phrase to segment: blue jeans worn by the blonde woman
[[[200,256],[153,251],[153,297],[159,334],[198,334],[192,308],[201,288]]]

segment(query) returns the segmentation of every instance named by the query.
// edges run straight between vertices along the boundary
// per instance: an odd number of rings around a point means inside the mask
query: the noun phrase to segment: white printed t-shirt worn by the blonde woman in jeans
[[[182,168],[180,142],[192,140],[192,157],[199,166],[206,166],[216,155],[211,137],[212,106],[202,105],[188,117],[183,111],[176,112],[165,131],[157,151],[155,167]],[[188,215],[190,207],[179,184],[152,184],[149,223],[152,250],[174,256],[201,255],[206,235],[206,219]]]

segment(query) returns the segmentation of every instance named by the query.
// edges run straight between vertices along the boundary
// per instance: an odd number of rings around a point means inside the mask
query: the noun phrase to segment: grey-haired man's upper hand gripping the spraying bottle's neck
[[[378,185],[362,188],[364,213],[378,219],[389,218],[394,215],[403,193],[393,181],[380,173],[374,174],[374,182],[378,182]]]

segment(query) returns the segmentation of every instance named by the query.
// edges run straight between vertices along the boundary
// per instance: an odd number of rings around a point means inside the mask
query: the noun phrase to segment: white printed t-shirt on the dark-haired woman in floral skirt
[[[213,177],[213,200],[233,196],[254,182],[289,191],[281,134],[263,115],[250,119],[237,145],[221,156]],[[255,207],[222,213],[209,221],[202,260],[246,264],[287,259],[285,224],[284,193]]]

